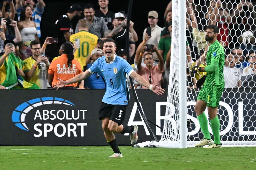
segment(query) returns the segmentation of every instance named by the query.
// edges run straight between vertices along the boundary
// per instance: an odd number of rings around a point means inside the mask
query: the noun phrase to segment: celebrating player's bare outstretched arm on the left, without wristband
[[[59,80],[59,83],[54,84],[53,88],[56,88],[56,90],[58,90],[59,88],[62,88],[65,85],[69,85],[69,84],[72,84],[72,83],[80,82],[81,80],[86,79],[90,75],[92,75],[92,74],[88,70],[86,70],[85,72],[80,73],[80,74],[76,75],[75,77],[73,77],[71,79],[68,79],[66,81],[63,81],[63,80],[57,78]]]

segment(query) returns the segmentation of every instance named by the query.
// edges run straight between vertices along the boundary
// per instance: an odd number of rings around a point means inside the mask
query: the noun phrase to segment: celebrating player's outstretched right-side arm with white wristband
[[[157,95],[159,94],[164,94],[164,89],[157,87],[159,85],[155,84],[155,85],[150,85],[142,76],[138,75],[135,72],[132,72],[130,74],[130,76],[136,81],[138,82],[140,85],[143,85],[145,87],[147,87],[148,89],[150,89],[151,91],[153,91],[154,93],[156,93]]]

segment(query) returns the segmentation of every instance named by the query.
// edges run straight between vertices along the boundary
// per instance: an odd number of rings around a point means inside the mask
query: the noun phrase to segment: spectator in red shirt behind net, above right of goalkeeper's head
[[[231,17],[229,13],[223,9],[223,5],[220,0],[217,1],[216,7],[211,14],[211,24],[219,27],[218,41],[223,47],[228,47],[229,43],[229,26],[231,25]]]

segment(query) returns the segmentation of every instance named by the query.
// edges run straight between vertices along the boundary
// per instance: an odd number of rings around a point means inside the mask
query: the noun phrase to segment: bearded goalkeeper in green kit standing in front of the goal
[[[223,76],[225,55],[224,48],[217,41],[218,33],[218,26],[209,25],[206,27],[205,40],[208,41],[208,44],[210,45],[206,56],[207,66],[194,66],[192,69],[193,73],[197,73],[198,71],[207,72],[205,83],[199,92],[195,105],[195,112],[199,120],[204,139],[202,139],[200,143],[197,143],[195,147],[209,145],[206,148],[218,148],[222,146],[220,142],[220,124],[217,111],[225,85]],[[203,84],[203,82],[201,84]],[[208,108],[214,142],[212,141],[208,130],[208,118],[204,114],[206,106]]]

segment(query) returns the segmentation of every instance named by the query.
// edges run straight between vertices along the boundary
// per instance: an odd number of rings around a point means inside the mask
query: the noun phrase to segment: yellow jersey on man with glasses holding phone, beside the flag
[[[34,67],[33,65],[36,63],[36,60],[33,57],[29,57],[25,60],[24,62],[24,67],[23,67],[23,72],[28,72]],[[37,67],[35,74],[32,76],[31,79],[26,79],[27,82],[29,83],[35,83],[37,86],[41,87],[40,81],[39,81],[39,68]]]

